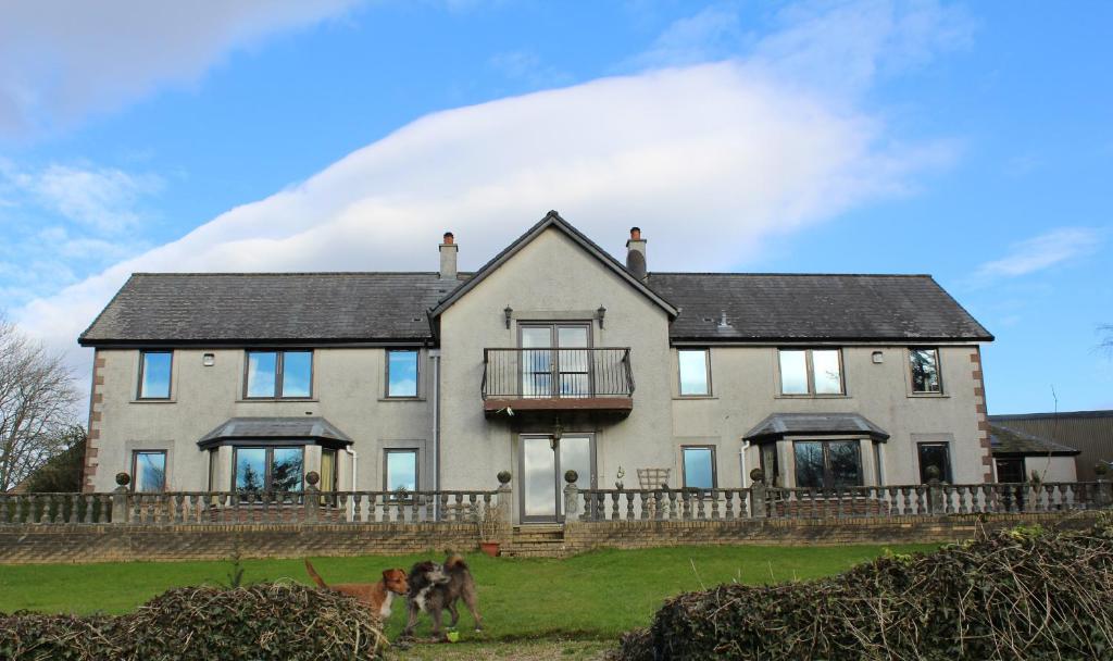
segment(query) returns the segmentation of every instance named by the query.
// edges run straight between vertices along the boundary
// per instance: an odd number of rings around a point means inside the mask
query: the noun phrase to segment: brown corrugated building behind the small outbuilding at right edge
[[[1113,462],[1113,411],[991,415],[989,422],[1077,450],[1073,463],[1084,482],[1097,479],[1096,464]]]

